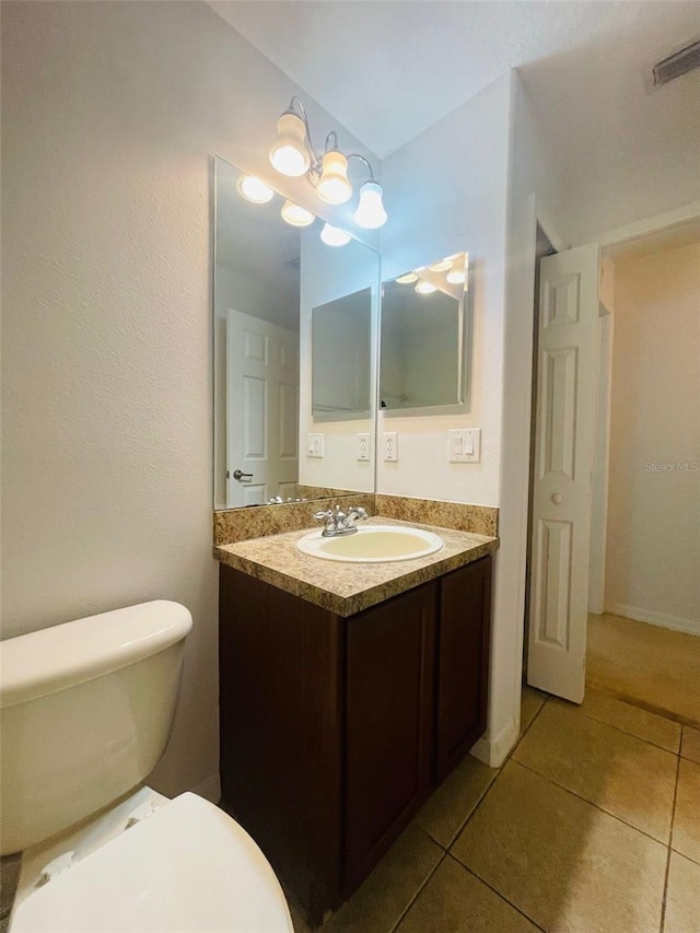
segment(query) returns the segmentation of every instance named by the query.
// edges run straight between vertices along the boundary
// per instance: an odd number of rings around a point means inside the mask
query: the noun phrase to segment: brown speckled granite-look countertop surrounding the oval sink
[[[417,522],[373,517],[368,525],[400,525],[434,532],[445,546],[428,557],[385,563],[345,563],[302,553],[295,544],[313,528],[214,547],[228,567],[301,596],[338,616],[352,616],[406,590],[435,580],[494,551],[499,539]],[[316,526],[316,529],[318,526]]]

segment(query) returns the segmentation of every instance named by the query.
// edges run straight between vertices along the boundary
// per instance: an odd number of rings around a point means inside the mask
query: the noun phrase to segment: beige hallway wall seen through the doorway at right
[[[698,634],[699,348],[700,246],[616,263],[605,607]]]

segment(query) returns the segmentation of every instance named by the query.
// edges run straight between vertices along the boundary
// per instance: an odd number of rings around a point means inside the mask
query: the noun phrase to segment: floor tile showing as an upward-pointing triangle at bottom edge
[[[537,928],[447,855],[396,933],[537,933]]]

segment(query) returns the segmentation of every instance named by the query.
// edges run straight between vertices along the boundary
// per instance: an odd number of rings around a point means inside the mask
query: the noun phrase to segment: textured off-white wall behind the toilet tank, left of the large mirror
[[[188,606],[164,793],[218,771],[210,156],[269,177],[294,93],[205,4],[2,3],[3,635]]]

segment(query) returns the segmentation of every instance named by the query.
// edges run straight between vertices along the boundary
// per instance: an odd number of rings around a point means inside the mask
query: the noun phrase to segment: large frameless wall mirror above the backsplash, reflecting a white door
[[[214,186],[214,509],[374,491],[378,255],[222,159]]]

